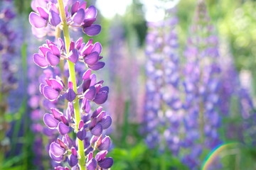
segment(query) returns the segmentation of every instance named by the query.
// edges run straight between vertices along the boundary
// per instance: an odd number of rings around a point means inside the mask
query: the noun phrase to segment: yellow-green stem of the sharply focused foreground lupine
[[[67,55],[69,55],[69,46],[70,46],[70,34],[68,31],[68,24],[65,16],[65,10],[63,5],[63,0],[58,0],[58,6],[60,11],[60,18],[63,21],[63,35],[65,40],[65,49]],[[78,94],[78,88],[75,79],[75,64],[73,62],[68,61],[68,69],[70,74],[70,81],[73,83],[73,90],[75,94]],[[78,125],[81,120],[80,117],[80,106],[78,98],[75,98],[73,101],[74,104],[74,113],[75,113],[75,131],[78,132]],[[78,140],[78,165],[80,166],[80,170],[85,170],[85,152],[84,152],[84,145],[82,140]]]

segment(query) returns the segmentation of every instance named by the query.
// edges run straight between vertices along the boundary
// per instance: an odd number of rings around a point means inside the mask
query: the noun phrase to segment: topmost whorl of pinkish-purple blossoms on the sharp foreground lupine
[[[73,1],[71,1],[73,3]],[[54,0],[33,0],[31,2],[32,13],[29,15],[32,32],[36,37],[43,38],[45,35],[54,35],[55,27],[60,26],[60,13]],[[67,23],[71,28],[80,28],[89,36],[100,33],[101,26],[93,24],[96,21],[97,9],[88,6],[86,1],[64,1],[65,6],[70,6],[70,11],[65,9]]]

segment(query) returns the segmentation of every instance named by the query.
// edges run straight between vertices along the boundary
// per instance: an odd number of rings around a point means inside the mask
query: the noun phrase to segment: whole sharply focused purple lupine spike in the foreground
[[[85,1],[65,4],[62,0],[57,4],[46,1],[34,10],[29,16],[33,28],[60,28],[64,40],[46,40],[33,55],[33,61],[42,68],[55,68],[63,61],[68,66],[68,73],[46,78],[46,82],[40,84],[40,92],[48,101],[65,106],[50,108],[43,116],[48,128],[59,133],[48,150],[51,159],[59,163],[55,169],[70,169],[63,167],[64,162],[68,162],[72,169],[109,169],[113,164],[113,159],[107,157],[110,137],[105,136],[103,130],[110,127],[112,119],[97,106],[105,103],[109,88],[92,74],[105,66],[100,61],[102,46],[100,42],[93,43],[92,39],[86,43],[82,38],[72,40],[69,32],[69,28],[74,27],[89,36],[100,33],[101,26],[93,24],[97,10],[94,6],[87,7]],[[87,67],[81,79],[75,72],[75,66],[80,62]]]

